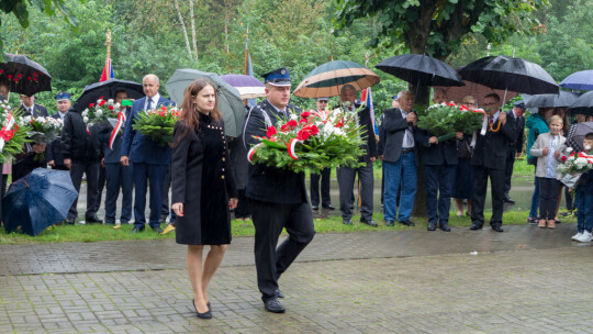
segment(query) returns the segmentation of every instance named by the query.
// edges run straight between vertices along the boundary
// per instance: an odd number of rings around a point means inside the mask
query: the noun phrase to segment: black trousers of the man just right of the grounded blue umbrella
[[[70,168],[70,178],[72,179],[72,185],[75,186],[76,191],[80,196],[80,183],[82,182],[82,174],[87,175],[87,212],[85,218],[94,216],[97,211],[94,211],[94,203],[97,202],[97,183],[99,182],[99,168],[101,163],[87,163],[87,162],[77,162],[72,160],[72,166]],[[78,216],[78,211],[76,205],[78,204],[78,198],[70,207],[68,212],[68,219],[76,219]]]

